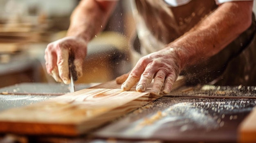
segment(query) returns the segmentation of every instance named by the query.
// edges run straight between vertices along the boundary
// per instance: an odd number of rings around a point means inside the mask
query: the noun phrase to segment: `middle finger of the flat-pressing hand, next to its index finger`
[[[151,83],[156,71],[157,71],[156,66],[148,65],[146,67],[146,69],[145,69],[144,73],[141,75],[139,83],[136,87],[136,90],[138,92],[145,92],[148,84]]]

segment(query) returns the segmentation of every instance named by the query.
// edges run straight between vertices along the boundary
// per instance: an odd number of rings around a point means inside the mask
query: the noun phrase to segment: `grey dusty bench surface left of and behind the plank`
[[[76,90],[89,88],[93,84],[76,84]],[[0,88],[0,111],[13,107],[28,106],[69,93],[65,84],[22,83]]]

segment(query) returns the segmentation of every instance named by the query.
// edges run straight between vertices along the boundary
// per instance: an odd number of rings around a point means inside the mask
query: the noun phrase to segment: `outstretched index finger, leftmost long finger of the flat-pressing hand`
[[[122,90],[124,91],[130,90],[135,84],[137,84],[137,82],[141,77],[141,74],[144,72],[146,67],[142,63],[143,63],[143,60],[139,60],[139,62],[137,62],[136,66],[132,69],[126,81],[124,81],[124,83],[122,84],[121,86]]]

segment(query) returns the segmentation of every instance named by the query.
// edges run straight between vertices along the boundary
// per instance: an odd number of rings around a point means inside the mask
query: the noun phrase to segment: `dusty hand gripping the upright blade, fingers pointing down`
[[[77,37],[64,37],[47,45],[45,49],[45,66],[47,73],[56,81],[70,83],[69,60],[73,57],[74,73],[82,76],[83,60],[87,54],[87,42]]]

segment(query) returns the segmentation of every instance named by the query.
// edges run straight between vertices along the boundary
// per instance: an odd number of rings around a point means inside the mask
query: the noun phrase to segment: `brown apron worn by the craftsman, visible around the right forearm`
[[[133,11],[141,54],[158,51],[185,32],[218,6],[215,0],[192,0],[179,7],[170,7],[163,0],[135,0]],[[183,69],[187,84],[256,85],[255,20],[224,50],[207,61]]]

